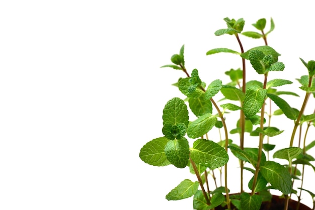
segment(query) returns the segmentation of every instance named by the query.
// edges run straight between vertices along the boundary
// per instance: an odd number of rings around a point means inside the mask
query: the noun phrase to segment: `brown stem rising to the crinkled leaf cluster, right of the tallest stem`
[[[266,89],[266,84],[267,84],[267,78],[268,78],[268,72],[265,73],[265,79],[264,79],[264,86],[263,88]],[[263,102],[263,106],[261,108],[261,113],[260,113],[260,128],[264,130],[264,114],[265,114],[265,100]],[[252,187],[252,195],[255,194],[255,187],[256,187],[256,182],[258,178],[258,173],[259,173],[259,167],[260,167],[260,161],[262,157],[262,152],[263,152],[263,140],[264,140],[264,135],[262,133],[259,134],[259,148],[258,148],[258,158],[257,158],[257,164],[256,164],[256,170],[254,174],[254,180],[253,180],[253,187]]]

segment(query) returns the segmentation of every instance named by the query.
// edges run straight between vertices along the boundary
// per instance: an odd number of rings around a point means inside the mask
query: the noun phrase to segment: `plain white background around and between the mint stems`
[[[273,18],[268,44],[286,67],[270,79],[298,87],[295,78],[307,74],[299,57],[315,60],[310,2],[2,1],[0,209],[192,209],[192,198],[165,199],[182,180],[196,180],[187,168],[154,167],[139,158],[146,142],[162,136],[165,103],[184,98],[171,84],[185,74],[160,67],[185,44],[188,71],[197,68],[207,84],[227,82],[224,71],[241,67],[241,59],[206,56],[217,47],[240,51],[233,36],[214,35],[226,28],[223,18],[244,18],[244,31],[254,31],[251,24],[260,18],[269,29]],[[264,45],[241,40],[245,50]],[[299,94],[287,97],[298,109]],[[278,119],[281,130],[292,127]],[[273,142],[277,148],[289,144],[290,131],[281,135]],[[229,188],[237,192],[239,170],[229,166]],[[313,182],[304,186],[314,191]]]

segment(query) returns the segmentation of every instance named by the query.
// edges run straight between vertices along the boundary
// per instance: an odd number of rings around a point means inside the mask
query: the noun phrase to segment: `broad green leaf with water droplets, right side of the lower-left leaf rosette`
[[[211,169],[219,168],[228,161],[227,152],[223,147],[205,139],[198,139],[194,142],[190,157],[196,164],[207,166]]]

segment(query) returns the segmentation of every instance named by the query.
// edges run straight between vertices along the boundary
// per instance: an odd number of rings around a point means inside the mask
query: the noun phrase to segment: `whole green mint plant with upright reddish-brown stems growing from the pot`
[[[314,209],[315,194],[313,189],[304,185],[303,180],[306,175],[314,176],[305,174],[305,167],[311,167],[315,171],[312,163],[315,159],[308,153],[315,146],[315,140],[309,141],[307,138],[309,130],[315,129],[315,110],[313,113],[304,113],[306,106],[315,107],[315,61],[306,62],[300,58],[304,68],[300,70],[301,77],[292,79],[300,83],[299,88],[303,90],[304,96],[300,107],[294,108],[283,97],[287,95],[296,100],[299,96],[297,90],[290,88],[293,82],[283,78],[268,78],[273,72],[285,72],[285,64],[279,59],[281,54],[267,42],[267,36],[275,28],[273,19],[270,20],[270,29],[267,32],[266,19],[252,24],[257,32],[243,32],[243,19],[225,18],[224,21],[227,28],[219,29],[214,34],[235,37],[240,51],[215,48],[206,52],[206,55],[232,53],[240,57],[242,67],[225,72],[225,76],[230,79],[226,84],[220,78],[206,81],[199,77],[197,69],[186,69],[183,45],[179,53],[171,57],[172,64],[162,66],[184,72],[185,77],[179,78],[174,84],[179,89],[180,96],[171,98],[164,109],[161,109],[161,137],[147,142],[140,149],[139,157],[153,166],[174,165],[183,172],[195,174],[196,180],[181,180],[166,195],[168,200],[193,196],[193,209],[260,209],[263,202],[272,199],[271,189],[279,190],[283,194],[285,210],[289,207],[292,194],[296,194],[300,203],[302,192],[310,195]],[[246,39],[263,39],[263,45],[245,51],[241,36]],[[247,61],[250,66],[247,66]],[[248,78],[247,71],[256,71],[257,75],[255,78]],[[286,91],[277,89],[283,85],[287,86]],[[220,95],[221,98],[217,98]],[[267,106],[276,108],[276,111],[271,113]],[[233,120],[237,127],[227,128],[226,116],[234,112],[239,113],[239,118],[228,119]],[[190,114],[197,119],[190,121]],[[279,115],[284,115],[293,128],[287,146],[274,151],[276,145],[271,144],[270,139],[282,139],[283,133],[274,124],[274,119]],[[302,127],[306,127],[304,132]],[[222,139],[209,138],[211,132],[221,130]],[[238,137],[233,134],[238,134]],[[257,139],[257,147],[245,147],[245,142],[253,141],[252,139]],[[228,188],[228,180],[233,176],[228,174],[231,158],[239,160],[241,173],[240,191],[232,194]],[[287,164],[283,165],[279,160],[285,160]],[[253,173],[250,180],[244,180],[244,170]],[[214,174],[221,174],[222,171],[223,183],[217,185]],[[216,185],[212,188],[209,187],[211,177]],[[295,180],[301,180],[300,184],[296,185]],[[244,190],[245,184],[251,191]],[[299,205],[296,209],[299,209]]]

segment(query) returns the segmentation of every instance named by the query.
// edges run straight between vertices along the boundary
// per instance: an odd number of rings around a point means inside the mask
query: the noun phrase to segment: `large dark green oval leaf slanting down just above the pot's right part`
[[[264,164],[261,164],[260,172],[276,189],[279,189],[284,194],[289,194],[291,192],[291,175],[288,169],[283,165],[273,161],[266,161]]]

